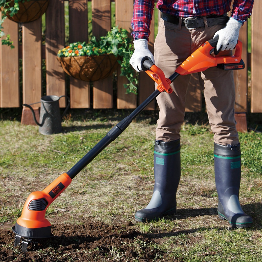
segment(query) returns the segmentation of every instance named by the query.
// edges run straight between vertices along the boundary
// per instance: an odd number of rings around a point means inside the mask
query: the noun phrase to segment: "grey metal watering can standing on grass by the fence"
[[[62,116],[60,116],[59,109],[59,99],[61,97],[66,97],[68,100],[68,105],[65,108]],[[37,122],[35,117],[34,109],[30,106],[33,104],[41,103],[40,107],[40,117],[39,122]],[[65,112],[68,110],[70,106],[70,100],[67,96],[43,96],[41,97],[40,102],[36,102],[33,104],[23,104],[23,106],[29,107],[33,113],[34,120],[37,125],[39,125],[39,133],[43,135],[51,135],[55,133],[62,132],[61,119],[64,116]]]

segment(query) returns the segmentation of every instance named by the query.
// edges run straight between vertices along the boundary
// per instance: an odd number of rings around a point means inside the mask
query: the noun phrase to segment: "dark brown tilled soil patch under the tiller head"
[[[129,221],[125,225],[109,226],[103,222],[85,222],[81,225],[53,225],[53,238],[41,239],[35,246],[28,245],[26,253],[14,247],[15,235],[4,227],[0,232],[0,261],[161,261],[170,257],[156,248],[151,234],[134,229]],[[152,235],[155,236],[155,235]],[[173,260],[177,261],[177,260]]]

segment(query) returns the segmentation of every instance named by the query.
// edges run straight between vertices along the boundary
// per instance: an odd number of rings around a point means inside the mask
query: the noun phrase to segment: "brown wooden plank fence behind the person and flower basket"
[[[46,94],[66,95],[65,73],[57,61],[56,54],[65,46],[65,15],[64,0],[50,0],[47,8],[45,45],[42,46],[41,18],[36,21],[22,24],[22,45],[19,45],[19,24],[9,19],[4,21],[4,30],[10,34],[14,42],[14,49],[0,43],[0,107],[20,107],[21,103],[35,103],[40,101],[42,94],[42,59],[46,61]],[[111,5],[115,5],[115,18],[118,27],[132,31],[130,21],[133,15],[133,0],[92,0],[92,18],[88,17],[87,0],[69,0],[69,42],[88,41],[88,23],[92,19],[92,34],[105,35],[111,29]],[[154,12],[157,12],[155,9]],[[247,112],[248,67],[251,67],[251,112],[262,112],[262,52],[261,30],[257,26],[262,12],[262,6],[255,2],[252,14],[252,53],[247,52],[247,24],[241,28],[239,39],[243,42],[242,59],[245,69],[237,70],[236,82],[236,119],[239,131],[245,130]],[[254,26],[253,26],[254,25]],[[149,46],[153,51],[154,23],[151,24]],[[22,90],[20,90],[19,58],[22,58]],[[116,107],[136,108],[153,91],[154,83],[146,73],[140,73],[138,96],[126,94],[123,86],[126,78],[117,73],[117,92],[113,91],[113,79],[95,81],[92,90],[89,82],[70,77],[70,107],[71,108],[112,108],[113,101]],[[20,98],[22,94],[22,99]],[[90,97],[92,94],[92,97]],[[116,97],[114,97],[116,95]],[[186,98],[186,111],[201,110],[201,91],[198,80],[193,75]],[[60,106],[65,107],[66,101],[61,99]],[[40,106],[40,105],[37,105]],[[37,112],[38,107],[34,108]],[[154,110],[152,102],[147,110]],[[23,108],[23,124],[33,124],[31,112]]]

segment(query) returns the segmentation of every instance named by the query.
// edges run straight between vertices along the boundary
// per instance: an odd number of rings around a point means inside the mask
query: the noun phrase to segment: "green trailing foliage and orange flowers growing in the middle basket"
[[[137,93],[138,75],[129,63],[134,51],[133,42],[126,29],[112,28],[106,36],[99,39],[91,37],[86,42],[74,42],[58,51],[58,57],[70,56],[92,56],[100,54],[114,54],[119,57],[118,63],[121,66],[121,75],[125,76],[129,83],[125,84],[127,93]]]

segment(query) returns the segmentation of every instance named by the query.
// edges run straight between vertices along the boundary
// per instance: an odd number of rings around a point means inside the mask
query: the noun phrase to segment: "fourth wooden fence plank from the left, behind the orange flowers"
[[[69,0],[69,41],[88,41],[87,0]],[[89,82],[70,77],[70,107],[90,107]]]

